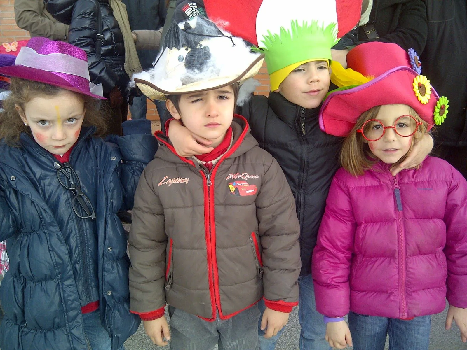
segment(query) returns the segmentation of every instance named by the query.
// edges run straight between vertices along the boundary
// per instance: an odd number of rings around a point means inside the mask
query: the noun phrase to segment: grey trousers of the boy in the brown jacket
[[[258,350],[256,325],[260,311],[256,305],[227,319],[213,322],[169,306],[170,350]]]

